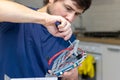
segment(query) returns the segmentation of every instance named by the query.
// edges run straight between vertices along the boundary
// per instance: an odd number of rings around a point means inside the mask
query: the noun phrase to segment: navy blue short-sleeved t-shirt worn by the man
[[[48,60],[69,45],[40,24],[0,23],[0,80],[4,74],[11,78],[44,77],[52,66]]]

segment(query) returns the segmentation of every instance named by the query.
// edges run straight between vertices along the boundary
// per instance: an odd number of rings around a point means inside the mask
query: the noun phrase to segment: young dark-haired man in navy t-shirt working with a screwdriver
[[[0,79],[44,77],[48,61],[75,40],[72,21],[90,7],[91,0],[44,0],[41,9],[30,9],[9,0],[0,1]],[[56,27],[55,22],[61,24]],[[77,68],[63,80],[78,80]]]

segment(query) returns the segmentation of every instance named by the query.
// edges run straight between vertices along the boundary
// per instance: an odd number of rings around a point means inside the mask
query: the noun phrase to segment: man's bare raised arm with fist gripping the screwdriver
[[[70,22],[62,16],[46,13],[46,8],[47,5],[42,8],[43,11],[41,9],[35,11],[9,0],[0,0],[0,22],[42,24],[53,36],[62,37],[64,40],[68,40],[72,35]],[[58,28],[55,26],[56,21],[61,22]]]

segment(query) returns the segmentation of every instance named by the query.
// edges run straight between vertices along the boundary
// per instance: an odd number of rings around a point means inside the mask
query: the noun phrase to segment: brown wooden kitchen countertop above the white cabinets
[[[97,43],[105,43],[105,44],[113,44],[120,45],[120,38],[93,38],[93,37],[77,37],[80,41],[86,42],[97,42]]]

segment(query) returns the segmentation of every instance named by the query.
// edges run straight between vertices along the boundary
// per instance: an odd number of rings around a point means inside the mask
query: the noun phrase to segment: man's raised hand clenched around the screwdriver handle
[[[64,40],[68,40],[72,35],[72,28],[69,21],[61,16],[54,16],[45,14],[45,21],[43,21],[43,25],[46,26],[47,30],[56,37],[64,38]],[[59,21],[61,24],[56,27],[55,22]]]

